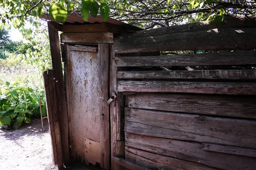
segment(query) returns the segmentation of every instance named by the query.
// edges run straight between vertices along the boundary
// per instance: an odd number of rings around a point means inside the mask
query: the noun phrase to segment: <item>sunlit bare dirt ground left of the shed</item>
[[[23,123],[18,130],[0,129],[0,170],[58,170],[52,164],[52,145],[47,119]]]

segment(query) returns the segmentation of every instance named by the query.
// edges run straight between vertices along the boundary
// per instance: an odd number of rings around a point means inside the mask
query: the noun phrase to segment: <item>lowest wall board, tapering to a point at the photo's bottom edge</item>
[[[125,147],[125,159],[151,170],[215,170],[211,167]]]

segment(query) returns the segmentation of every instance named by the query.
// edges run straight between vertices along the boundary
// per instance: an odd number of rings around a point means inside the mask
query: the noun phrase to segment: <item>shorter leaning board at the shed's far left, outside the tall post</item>
[[[53,70],[44,71],[45,94],[47,101],[47,116],[49,121],[50,134],[52,138],[53,161],[58,168],[63,167],[63,150],[61,142],[61,128],[58,118],[58,102],[56,96],[55,75]]]

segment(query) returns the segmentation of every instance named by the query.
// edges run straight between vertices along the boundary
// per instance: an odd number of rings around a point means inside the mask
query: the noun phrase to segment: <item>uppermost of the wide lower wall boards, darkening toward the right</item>
[[[256,97],[143,93],[127,98],[130,108],[256,119]]]

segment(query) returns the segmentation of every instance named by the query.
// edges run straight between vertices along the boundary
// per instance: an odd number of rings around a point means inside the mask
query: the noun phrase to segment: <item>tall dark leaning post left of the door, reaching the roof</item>
[[[58,37],[58,29],[48,22],[48,32],[49,32],[49,42],[50,51],[52,56],[52,68],[55,73],[56,82],[58,82],[58,90],[56,91],[57,108],[58,108],[58,118],[60,122],[61,131],[61,144],[63,150],[63,161],[64,164],[70,162],[69,144],[68,144],[68,119],[67,119],[67,104],[65,99],[64,91],[64,80],[62,72],[62,62],[61,62],[61,50]]]

